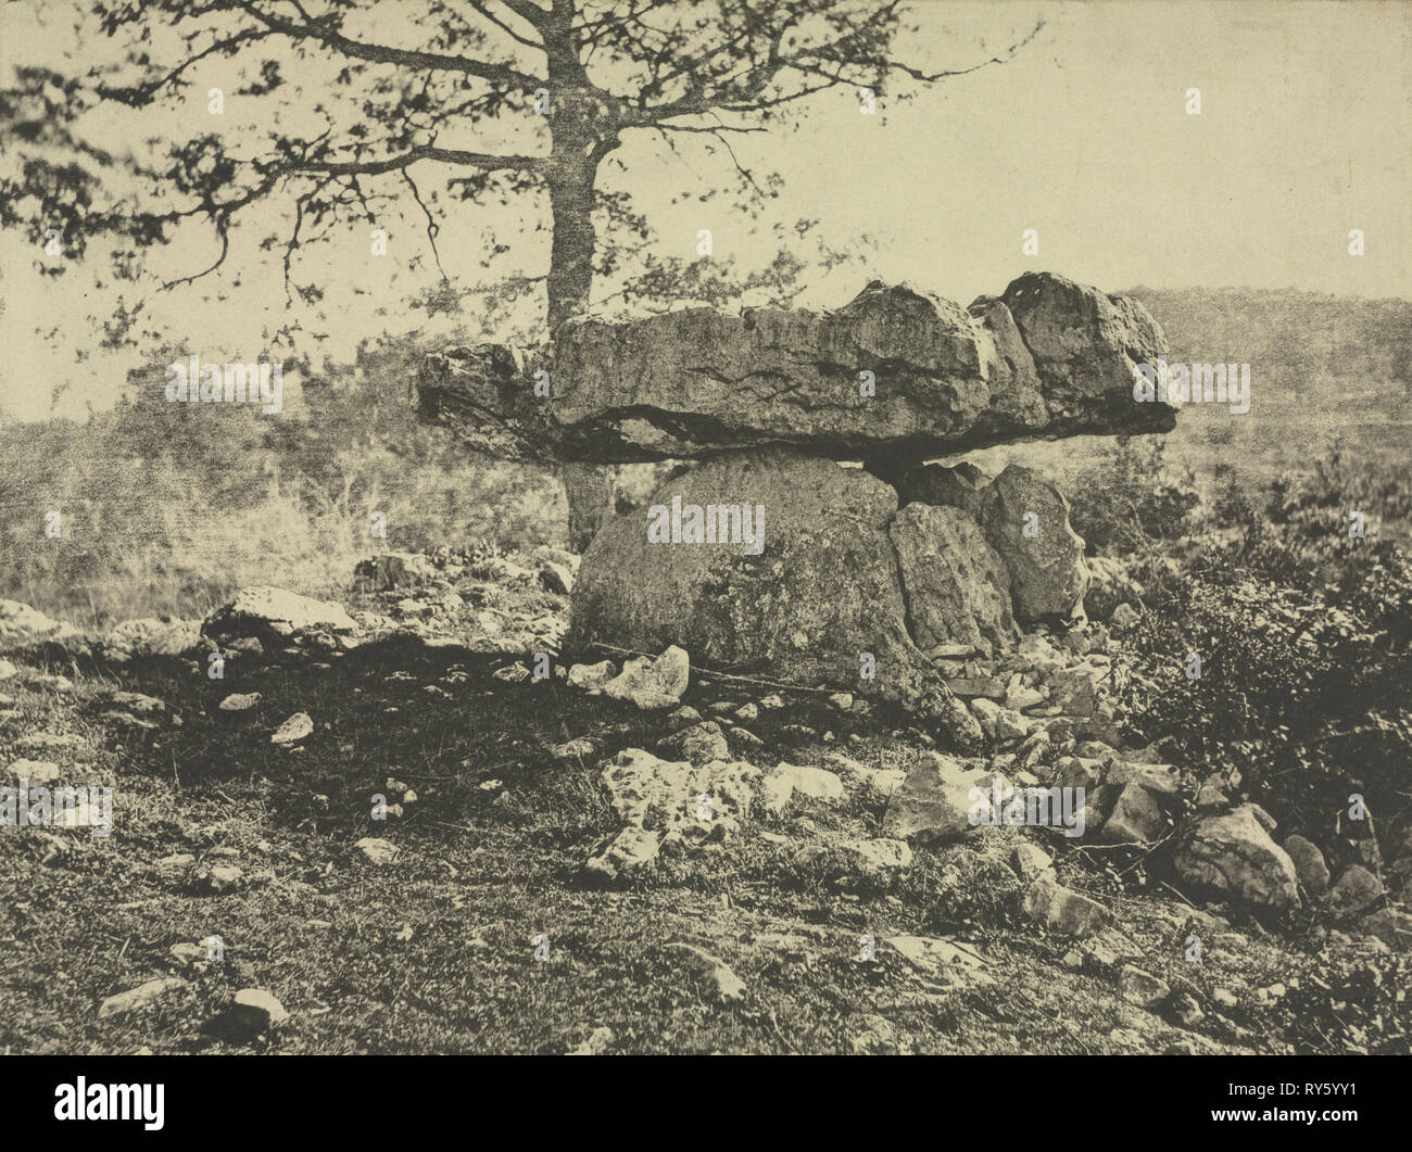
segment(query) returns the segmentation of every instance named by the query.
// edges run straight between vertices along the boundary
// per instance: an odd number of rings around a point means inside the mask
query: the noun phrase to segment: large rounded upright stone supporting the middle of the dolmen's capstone
[[[748,507],[760,553],[740,542],[654,544],[652,505]],[[762,517],[761,517],[762,511]],[[882,481],[775,449],[703,462],[662,484],[647,510],[617,517],[583,558],[570,655],[594,642],[638,652],[681,645],[706,668],[768,671],[918,702],[946,697],[907,631],[888,538],[897,494]],[[713,517],[714,520],[714,517]],[[743,518],[741,518],[743,525]],[[860,676],[863,654],[875,678]]]

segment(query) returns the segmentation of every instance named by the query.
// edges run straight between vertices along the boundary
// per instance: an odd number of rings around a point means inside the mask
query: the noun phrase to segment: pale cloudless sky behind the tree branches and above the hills
[[[412,1],[383,0],[376,31],[385,34],[393,14]],[[76,42],[71,13],[52,0],[40,8],[37,0],[4,4],[6,76],[16,64],[73,66],[75,58],[86,64],[112,51],[107,40]],[[813,97],[798,131],[781,126],[768,136],[733,137],[733,145],[747,168],[784,176],[784,193],[758,233],[808,216],[822,220],[820,236],[832,247],[856,248],[864,233],[875,240],[866,271],[812,285],[803,302],[818,306],[844,304],[873,277],[908,280],[966,304],[1034,268],[1110,292],[1250,287],[1408,298],[1409,13],[1408,3],[929,0],[918,4],[922,41],[904,48],[932,66],[984,59],[1039,17],[1046,27],[1014,61],[943,80],[908,103],[884,99],[875,116],[861,114],[856,96],[839,90]],[[326,73],[288,75],[302,80],[309,104],[321,97]],[[229,64],[213,62],[198,73],[184,112],[104,112],[92,130],[110,148],[210,131],[209,85],[230,92],[239,82]],[[1199,116],[1186,110],[1192,88],[1200,89]],[[227,102],[220,130],[237,141],[240,124],[258,123],[263,113],[254,97],[243,106]],[[604,169],[600,186],[634,193],[662,251],[690,257],[703,227],[713,232],[717,254],[772,251],[723,199],[669,203],[692,182],[724,178],[724,161],[702,155],[699,137],[678,137],[685,160],[668,155],[655,136],[626,140],[616,155],[630,175]],[[438,143],[531,150],[508,130],[501,138],[483,128],[465,141],[443,136]],[[412,171],[425,192],[460,169],[424,162]],[[257,250],[287,209],[287,200],[273,202],[258,227],[241,229],[217,275],[172,292],[128,284],[128,301],[134,292],[147,298],[152,326],[191,340],[212,360],[256,359],[265,350],[264,333],[291,318],[326,333],[321,349],[337,360],[352,359],[359,339],[384,328],[425,323],[402,304],[438,278],[417,210],[385,222],[391,250],[384,258],[370,254],[361,223],[308,248],[301,274],[328,284],[328,296],[313,309],[287,312],[278,257]],[[493,213],[463,209],[445,224],[439,244],[449,272],[476,275],[487,222],[496,223]],[[1039,233],[1038,256],[1021,251],[1025,229]],[[1365,234],[1361,257],[1348,254],[1350,229]],[[90,261],[104,251],[95,244]],[[158,275],[181,275],[206,267],[215,253],[209,232],[192,232],[154,251],[148,265]],[[422,271],[407,267],[412,253],[425,257]],[[75,353],[95,349],[85,318],[107,315],[116,294],[92,291],[99,265],[41,278],[32,270],[37,256],[18,234],[0,236],[0,411],[42,418],[58,384],[69,388],[56,414],[106,408],[140,354],[93,353],[79,363]],[[500,267],[538,274],[546,258],[546,233],[527,232]],[[59,335],[44,339],[37,326],[58,326]]]

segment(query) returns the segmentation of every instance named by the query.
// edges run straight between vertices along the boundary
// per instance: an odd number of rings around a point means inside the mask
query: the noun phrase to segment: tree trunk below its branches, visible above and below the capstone
[[[549,179],[554,213],[548,278],[551,335],[589,305],[597,239],[593,230],[593,167],[583,161],[561,168]],[[552,380],[549,387],[554,388]],[[587,552],[599,528],[613,517],[616,472],[597,464],[561,464],[559,479],[569,501],[569,548]]]

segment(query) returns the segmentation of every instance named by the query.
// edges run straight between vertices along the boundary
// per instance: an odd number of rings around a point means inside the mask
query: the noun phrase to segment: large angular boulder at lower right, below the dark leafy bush
[[[1269,839],[1255,805],[1200,817],[1173,865],[1187,884],[1231,899],[1267,908],[1299,905],[1293,861]]]

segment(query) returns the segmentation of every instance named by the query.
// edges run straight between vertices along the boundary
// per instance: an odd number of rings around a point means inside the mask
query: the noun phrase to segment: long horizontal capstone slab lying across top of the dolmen
[[[834,312],[578,319],[532,357],[450,349],[426,357],[418,397],[424,415],[508,459],[627,463],[784,443],[895,464],[1035,436],[1168,431],[1175,409],[1132,398],[1135,364],[1165,350],[1139,304],[1051,274],[969,309],[874,282]],[[548,398],[534,391],[541,370]]]

